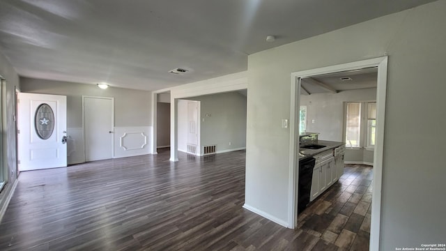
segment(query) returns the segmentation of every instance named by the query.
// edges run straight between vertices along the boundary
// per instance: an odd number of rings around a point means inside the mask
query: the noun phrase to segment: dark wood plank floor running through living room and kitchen
[[[245,151],[101,160],[20,174],[0,250],[368,250],[371,167],[286,229],[242,208]]]

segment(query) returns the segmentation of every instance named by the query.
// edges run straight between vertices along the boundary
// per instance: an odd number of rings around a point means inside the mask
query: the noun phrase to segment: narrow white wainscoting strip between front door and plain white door
[[[68,165],[85,162],[82,128],[67,128],[67,162]]]

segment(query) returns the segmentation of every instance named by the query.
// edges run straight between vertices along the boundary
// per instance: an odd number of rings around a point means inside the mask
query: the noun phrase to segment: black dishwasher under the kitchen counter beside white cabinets
[[[298,213],[304,211],[309,204],[315,161],[314,158],[305,158],[305,160],[299,161]]]

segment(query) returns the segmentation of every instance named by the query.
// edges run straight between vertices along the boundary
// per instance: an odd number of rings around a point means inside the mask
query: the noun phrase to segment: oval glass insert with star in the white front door
[[[54,130],[54,112],[51,107],[45,103],[39,105],[34,115],[34,127],[40,139],[49,139]]]

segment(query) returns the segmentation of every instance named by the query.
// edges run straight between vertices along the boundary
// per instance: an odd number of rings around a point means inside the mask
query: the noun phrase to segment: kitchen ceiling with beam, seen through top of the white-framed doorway
[[[338,93],[340,91],[376,88],[377,81],[378,68],[376,67],[349,70],[304,78],[301,82],[300,93],[302,95],[311,95],[315,93]]]

